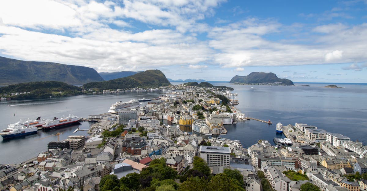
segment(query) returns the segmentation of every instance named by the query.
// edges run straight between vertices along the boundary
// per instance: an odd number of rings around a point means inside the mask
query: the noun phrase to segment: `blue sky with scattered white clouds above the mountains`
[[[367,83],[367,0],[1,0],[0,56],[174,80]]]

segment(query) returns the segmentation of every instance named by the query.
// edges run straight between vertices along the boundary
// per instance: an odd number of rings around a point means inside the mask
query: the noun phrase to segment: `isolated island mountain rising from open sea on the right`
[[[244,83],[252,85],[283,85],[294,86],[293,82],[288,79],[280,79],[274,73],[251,72],[247,76],[233,77],[229,83]]]

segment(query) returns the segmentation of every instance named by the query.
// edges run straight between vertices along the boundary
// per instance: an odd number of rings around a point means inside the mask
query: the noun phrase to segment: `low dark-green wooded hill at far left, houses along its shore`
[[[17,94],[13,95],[12,94]],[[13,99],[61,97],[81,94],[81,88],[64,82],[43,81],[12,84],[0,87],[0,95]]]

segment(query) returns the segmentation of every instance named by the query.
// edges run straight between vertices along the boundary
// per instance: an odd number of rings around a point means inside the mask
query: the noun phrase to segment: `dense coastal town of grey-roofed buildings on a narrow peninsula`
[[[244,148],[238,140],[222,138],[226,125],[253,119],[235,107],[235,95],[217,87],[175,85],[145,100],[145,106],[91,114],[83,119],[97,121],[87,130],[90,136],[70,135],[49,142],[47,151],[20,164],[2,164],[0,191],[112,190],[106,186],[110,176],[135,181],[124,183],[127,190],[143,190],[157,182],[155,176],[144,175],[158,164],[175,171],[167,178],[175,181],[173,190],[186,189],[185,181],[194,181],[190,176],[211,183],[229,172],[240,178],[235,181],[239,187],[228,190],[367,190],[367,146],[304,124],[308,121],[281,124],[280,132],[289,142],[275,138],[270,144],[263,139]],[[203,165],[198,168],[200,161],[210,172],[203,171]],[[144,178],[134,178],[141,172]],[[153,188],[163,189],[162,185]]]

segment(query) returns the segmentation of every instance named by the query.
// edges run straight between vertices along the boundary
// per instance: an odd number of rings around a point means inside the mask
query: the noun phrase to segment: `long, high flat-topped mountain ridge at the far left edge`
[[[0,57],[0,71],[0,85],[50,80],[68,84],[103,81],[97,71],[89,67],[6,57]]]

